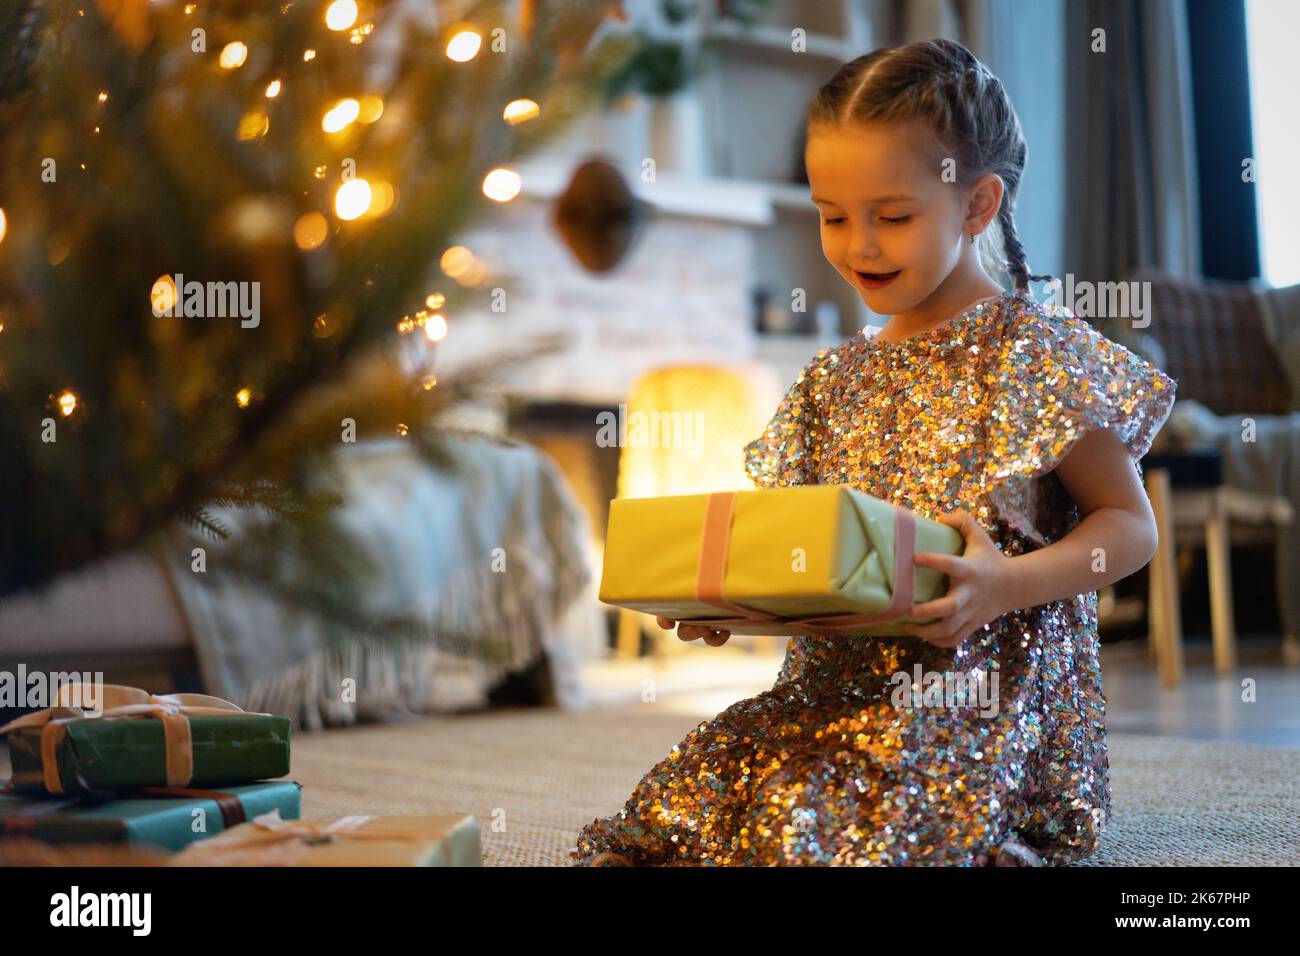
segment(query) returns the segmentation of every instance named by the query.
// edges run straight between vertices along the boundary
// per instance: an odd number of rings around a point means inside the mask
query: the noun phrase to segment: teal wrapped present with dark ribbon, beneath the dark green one
[[[30,797],[0,792],[0,839],[52,844],[117,843],[178,851],[273,810],[296,819],[302,784],[273,780],[226,787],[142,787],[110,799]]]

